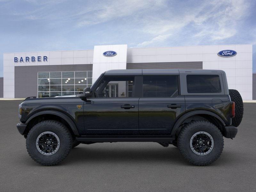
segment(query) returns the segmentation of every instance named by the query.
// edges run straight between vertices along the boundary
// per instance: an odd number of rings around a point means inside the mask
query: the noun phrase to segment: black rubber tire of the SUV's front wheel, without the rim
[[[36,147],[36,139],[43,132],[53,132],[60,139],[60,147],[58,151],[52,155],[41,154]],[[42,165],[56,165],[63,161],[72,148],[72,135],[68,128],[59,121],[46,120],[39,122],[28,132],[26,147],[29,156],[36,162]]]

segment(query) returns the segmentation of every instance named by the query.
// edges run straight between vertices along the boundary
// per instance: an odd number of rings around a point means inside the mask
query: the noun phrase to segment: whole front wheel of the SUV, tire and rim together
[[[26,147],[34,161],[49,166],[60,163],[68,156],[72,141],[72,135],[64,124],[46,120],[28,132]]]

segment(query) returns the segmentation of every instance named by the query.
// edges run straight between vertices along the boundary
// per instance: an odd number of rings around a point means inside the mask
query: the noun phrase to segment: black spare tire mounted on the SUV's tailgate
[[[238,127],[244,115],[244,103],[240,93],[235,89],[229,89],[231,101],[235,102],[235,117],[232,118],[232,125]]]

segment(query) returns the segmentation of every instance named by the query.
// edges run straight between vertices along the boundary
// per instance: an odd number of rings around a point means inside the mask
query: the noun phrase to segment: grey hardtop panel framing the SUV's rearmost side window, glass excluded
[[[220,93],[188,93],[187,75],[218,75],[220,78]],[[181,95],[225,95],[221,72],[180,72],[180,93]]]

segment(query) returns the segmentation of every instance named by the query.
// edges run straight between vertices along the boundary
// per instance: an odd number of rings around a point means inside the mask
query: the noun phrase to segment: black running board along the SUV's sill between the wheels
[[[172,142],[172,137],[76,137],[86,142]]]

